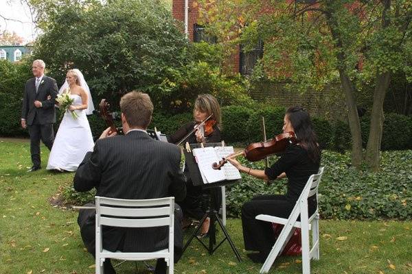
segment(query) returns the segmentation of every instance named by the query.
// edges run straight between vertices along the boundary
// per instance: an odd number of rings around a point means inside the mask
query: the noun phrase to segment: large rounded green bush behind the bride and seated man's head
[[[34,58],[45,60],[58,82],[67,69],[80,69],[93,95],[118,101],[141,89],[157,102],[168,95],[158,86],[170,69],[187,60],[187,39],[155,1],[75,1],[46,12]]]

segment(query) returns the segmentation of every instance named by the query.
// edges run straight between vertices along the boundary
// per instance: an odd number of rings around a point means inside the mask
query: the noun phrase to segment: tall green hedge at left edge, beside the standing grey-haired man
[[[20,126],[24,87],[33,77],[30,62],[0,60],[0,136],[25,136]]]

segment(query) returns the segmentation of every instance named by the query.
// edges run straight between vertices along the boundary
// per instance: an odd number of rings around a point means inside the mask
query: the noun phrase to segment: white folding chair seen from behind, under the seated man
[[[145,200],[126,200],[95,197],[96,250],[95,273],[103,274],[106,258],[117,260],[150,260],[165,258],[169,274],[173,273],[174,197]],[[125,218],[124,218],[125,217]],[[102,225],[111,227],[169,227],[169,246],[154,252],[111,252],[102,247]]]

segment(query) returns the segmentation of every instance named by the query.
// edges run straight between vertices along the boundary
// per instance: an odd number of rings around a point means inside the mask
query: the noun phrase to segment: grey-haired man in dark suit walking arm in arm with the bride
[[[40,139],[51,150],[54,142],[53,123],[56,123],[54,103],[57,97],[56,80],[45,76],[45,62],[35,60],[34,78],[25,84],[21,127],[29,127],[30,153],[33,166],[29,171],[41,169]]]

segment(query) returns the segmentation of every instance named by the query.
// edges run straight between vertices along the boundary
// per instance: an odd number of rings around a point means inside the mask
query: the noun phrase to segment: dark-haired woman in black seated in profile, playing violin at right
[[[286,111],[283,131],[295,132],[297,144],[288,145],[279,160],[262,170],[242,166],[238,161],[227,160],[239,171],[266,181],[288,177],[286,195],[260,195],[242,206],[244,248],[259,253],[247,254],[253,262],[264,262],[275,244],[271,223],[259,221],[255,216],[268,214],[288,218],[310,175],[319,171],[321,151],[306,110],[293,107]],[[317,208],[316,195],[308,199],[309,216]]]

